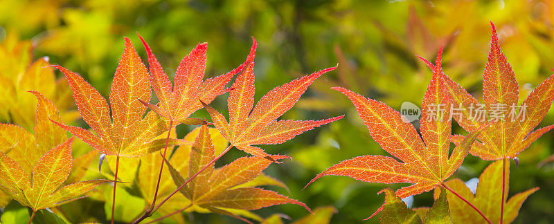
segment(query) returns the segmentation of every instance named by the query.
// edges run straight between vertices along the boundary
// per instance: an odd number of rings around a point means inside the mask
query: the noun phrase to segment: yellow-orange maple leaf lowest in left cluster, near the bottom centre
[[[198,136],[190,150],[188,162],[188,175],[197,174],[199,169],[206,167],[213,160],[215,150],[212,138],[206,125],[202,126]],[[288,158],[287,156],[271,156],[273,160]],[[181,161],[177,161],[181,164]],[[215,169],[211,163],[207,169],[190,181],[186,187],[179,192],[186,196],[192,206],[202,207],[211,212],[233,215],[225,209],[254,210],[272,205],[293,203],[308,208],[304,203],[298,202],[287,196],[277,194],[269,190],[257,187],[239,187],[259,176],[262,171],[272,163],[271,160],[253,156],[243,157],[231,162],[229,165]],[[170,162],[166,162],[175,185],[181,186],[185,178],[179,173]]]

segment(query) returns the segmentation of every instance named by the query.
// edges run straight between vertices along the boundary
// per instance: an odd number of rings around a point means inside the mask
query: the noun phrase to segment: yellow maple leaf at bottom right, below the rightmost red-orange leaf
[[[509,177],[510,163],[506,163],[506,166],[506,176]],[[504,205],[505,212],[503,221],[500,222],[499,214],[501,207],[498,205],[501,203],[500,196],[502,188],[498,186],[502,186],[503,170],[504,168],[501,161],[492,162],[479,177],[479,183],[477,184],[475,194],[458,178],[447,181],[446,185],[454,189],[458,194],[461,194],[466,200],[469,200],[475,207],[478,207],[493,223],[512,223],[527,197],[536,192],[539,188],[534,187],[525,192],[515,194],[508,201],[506,201],[508,195],[505,195],[503,198],[506,204]],[[506,178],[506,192],[508,192],[509,189],[508,182],[509,178]],[[478,217],[479,214],[470,211],[471,208],[454,194],[448,194],[448,202],[450,212],[452,213],[452,221],[454,221],[454,223],[483,223],[481,218]]]

